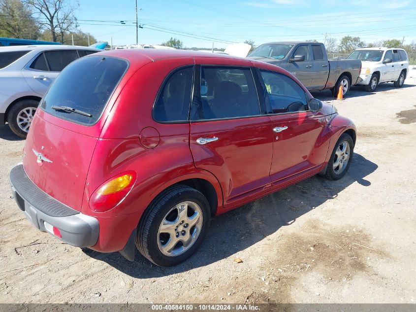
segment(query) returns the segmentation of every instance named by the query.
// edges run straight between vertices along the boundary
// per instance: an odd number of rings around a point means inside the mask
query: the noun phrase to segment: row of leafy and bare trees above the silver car
[[[96,38],[79,30],[71,0],[0,0],[0,37],[88,45]]]

